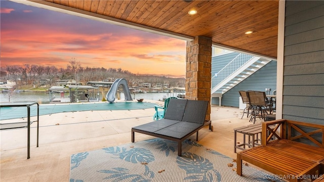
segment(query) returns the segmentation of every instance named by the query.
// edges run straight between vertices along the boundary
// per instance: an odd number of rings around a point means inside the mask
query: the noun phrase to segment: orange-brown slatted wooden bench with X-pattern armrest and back
[[[314,180],[324,171],[323,131],[324,125],[318,124],[284,119],[263,122],[261,146],[237,153],[237,174],[242,175],[244,160],[289,181]],[[271,141],[273,136],[277,140]],[[305,139],[312,145],[296,141]]]

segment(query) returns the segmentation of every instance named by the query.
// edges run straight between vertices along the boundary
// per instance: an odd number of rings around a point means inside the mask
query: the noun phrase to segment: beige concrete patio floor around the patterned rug
[[[30,159],[27,159],[27,129],[2,130],[0,181],[69,181],[71,154],[131,143],[131,128],[151,122],[154,112],[151,108],[39,116],[39,147],[36,148],[37,123],[33,123]],[[214,131],[208,126],[201,129],[198,143],[235,159],[233,128],[252,124],[246,115],[240,119],[241,115],[238,108],[213,105]],[[135,142],[152,138],[135,133]],[[195,141],[195,134],[190,139]]]

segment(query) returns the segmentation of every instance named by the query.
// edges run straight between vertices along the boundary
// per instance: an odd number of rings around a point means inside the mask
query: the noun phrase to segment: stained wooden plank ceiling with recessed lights
[[[184,36],[211,37],[215,44],[277,57],[278,1],[45,1]],[[188,14],[192,9],[196,15]],[[245,34],[248,30],[253,33]]]

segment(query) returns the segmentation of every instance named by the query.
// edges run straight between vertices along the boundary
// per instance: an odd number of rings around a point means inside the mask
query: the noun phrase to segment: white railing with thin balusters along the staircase
[[[238,68],[247,63],[253,56],[247,54],[238,54],[231,62],[212,77],[212,88],[221,81],[234,73]]]

